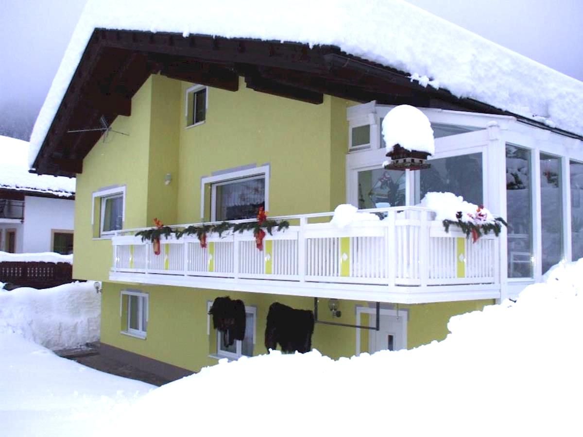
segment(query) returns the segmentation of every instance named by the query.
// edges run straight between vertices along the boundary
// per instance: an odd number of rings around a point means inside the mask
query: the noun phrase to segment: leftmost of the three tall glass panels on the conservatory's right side
[[[532,277],[531,152],[506,146],[508,277]]]

